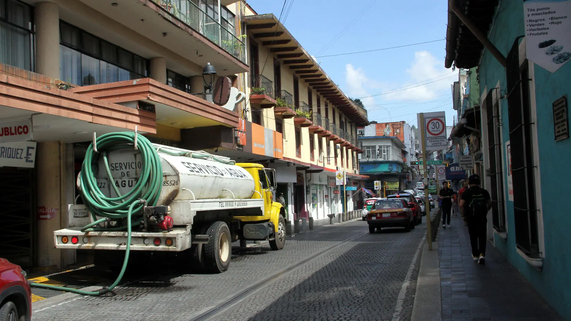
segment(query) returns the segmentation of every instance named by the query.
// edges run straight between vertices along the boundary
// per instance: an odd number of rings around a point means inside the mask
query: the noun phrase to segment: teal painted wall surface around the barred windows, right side
[[[497,17],[493,29],[489,33],[490,41],[506,56],[514,39],[523,35],[524,14],[521,0],[504,0],[496,9]],[[508,238],[502,240],[494,236],[494,243],[510,263],[533,285],[545,300],[566,320],[571,320],[571,215],[566,204],[565,195],[570,188],[566,184],[571,181],[568,170],[571,159],[571,139],[555,142],[553,133],[552,103],[562,95],[571,98],[571,63],[566,63],[556,73],[549,73],[540,66],[534,65],[534,82],[536,90],[537,143],[541,180],[541,205],[543,216],[543,234],[545,258],[542,271],[530,266],[517,252],[514,232],[513,202],[507,200]],[[496,87],[500,81],[500,89],[506,89],[505,69],[485,51],[480,63],[481,93]],[[486,89],[487,87],[487,89]],[[502,139],[505,160],[505,142],[509,140],[508,103],[501,99]],[[517,155],[512,154],[512,157]],[[504,161],[504,164],[506,162]],[[504,166],[504,173],[508,168]],[[504,186],[507,178],[504,175]],[[505,195],[507,195],[507,190]],[[562,197],[563,196],[563,197]]]

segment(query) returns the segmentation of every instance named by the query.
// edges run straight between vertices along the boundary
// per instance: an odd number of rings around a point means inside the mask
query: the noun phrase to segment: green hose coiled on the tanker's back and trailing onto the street
[[[111,183],[117,197],[107,197],[97,187],[95,178],[95,168],[98,167],[99,157],[103,157],[103,163],[107,172],[107,177],[112,180],[111,171],[107,162],[107,151],[119,149],[132,149],[137,135],[137,147],[142,157],[142,172],[139,180],[131,191],[125,195],[119,193],[115,184]],[[49,288],[51,290],[73,292],[81,295],[99,296],[104,295],[119,284],[127,268],[129,251],[131,248],[131,228],[139,226],[142,218],[142,209],[145,204],[155,206],[160,195],[163,180],[163,170],[160,164],[159,155],[147,138],[131,132],[110,133],[96,139],[98,152],[93,149],[93,143],[87,148],[82,170],[79,174],[79,191],[83,202],[91,212],[94,222],[84,226],[82,232],[97,231],[120,231],[127,228],[127,242],[123,266],[115,282],[109,287],[103,287],[98,291],[83,291],[75,288],[51,286],[49,284],[30,283],[31,287]],[[96,154],[98,153],[98,154]],[[101,155],[99,155],[101,154]],[[98,219],[96,216],[102,216]],[[122,219],[127,219],[126,224],[120,224]],[[117,226],[100,227],[103,222],[115,221]]]

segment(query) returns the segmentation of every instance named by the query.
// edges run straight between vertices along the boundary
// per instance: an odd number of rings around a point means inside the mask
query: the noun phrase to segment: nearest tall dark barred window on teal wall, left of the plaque
[[[523,37],[523,36],[521,36]],[[519,61],[519,38],[506,58],[509,139],[512,154],[513,212],[516,246],[538,256],[537,207],[532,149],[528,61]]]

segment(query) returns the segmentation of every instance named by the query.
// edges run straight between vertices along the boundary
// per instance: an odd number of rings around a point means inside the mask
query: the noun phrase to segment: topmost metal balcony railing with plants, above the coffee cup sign
[[[246,46],[190,0],[152,0],[171,15],[246,63]]]

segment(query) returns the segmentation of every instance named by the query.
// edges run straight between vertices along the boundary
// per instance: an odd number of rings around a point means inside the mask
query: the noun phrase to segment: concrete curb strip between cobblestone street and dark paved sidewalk
[[[428,250],[428,243],[424,244],[411,321],[442,320],[439,267],[438,242],[432,243],[432,251]]]

